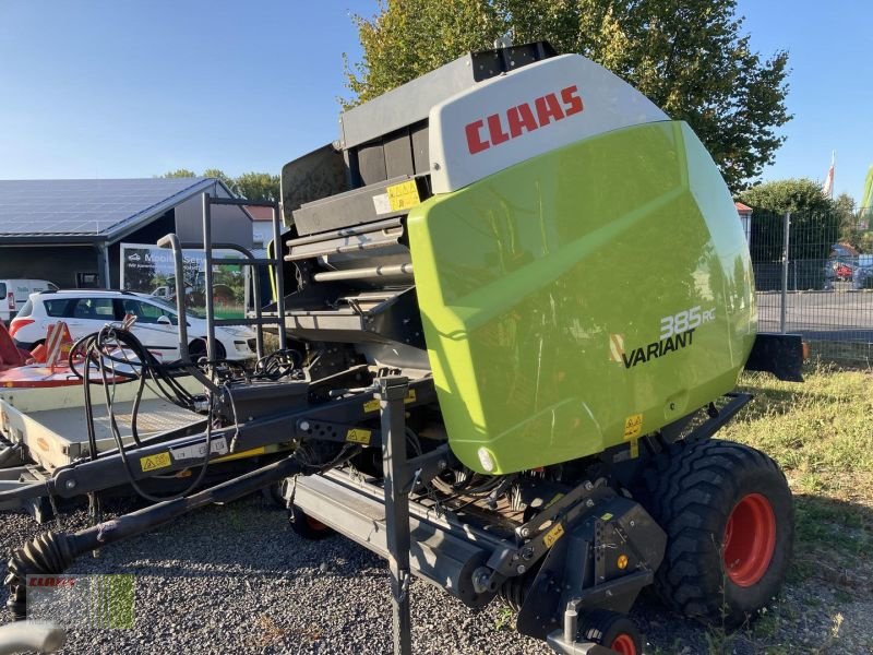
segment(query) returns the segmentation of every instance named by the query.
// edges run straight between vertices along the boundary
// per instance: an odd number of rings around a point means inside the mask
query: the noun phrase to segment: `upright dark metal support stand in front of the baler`
[[[385,472],[385,527],[391,568],[391,607],[395,655],[411,655],[412,622],[409,614],[409,489],[406,460],[406,409],[409,381],[380,378],[378,396],[382,412],[382,464]]]

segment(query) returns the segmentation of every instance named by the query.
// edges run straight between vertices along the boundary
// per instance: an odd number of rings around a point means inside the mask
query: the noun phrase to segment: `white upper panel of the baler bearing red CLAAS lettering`
[[[611,130],[669,120],[579,55],[493,78],[430,111],[431,183],[449,193],[513,164]]]

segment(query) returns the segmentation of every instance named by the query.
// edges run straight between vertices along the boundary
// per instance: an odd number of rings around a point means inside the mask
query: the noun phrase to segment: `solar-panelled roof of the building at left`
[[[229,195],[214,178],[0,180],[0,242],[115,241],[211,188]]]

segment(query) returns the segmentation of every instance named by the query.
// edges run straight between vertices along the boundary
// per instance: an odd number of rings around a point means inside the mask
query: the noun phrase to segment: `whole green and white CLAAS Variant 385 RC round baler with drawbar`
[[[502,47],[346,111],[282,184],[267,313],[297,352],[246,377],[206,362],[211,431],[137,444],[143,471],[109,453],[46,488],[192,466],[177,453],[294,455],[41,537],[11,561],[15,611],[27,572],[267,486],[302,537],[390,559],[400,652],[408,574],[470,607],[502,595],[524,634],[593,655],[642,653],[624,615],[646,585],[720,626],[778,593],[786,479],[713,437],[751,398],[733,391],[743,367],[797,379],[799,344],[757,334],[741,223],[687,124],[581,56]]]

